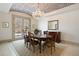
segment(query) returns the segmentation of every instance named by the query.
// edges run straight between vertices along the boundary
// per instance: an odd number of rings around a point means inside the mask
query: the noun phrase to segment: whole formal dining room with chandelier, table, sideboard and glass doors
[[[79,3],[0,3],[0,56],[79,56]]]

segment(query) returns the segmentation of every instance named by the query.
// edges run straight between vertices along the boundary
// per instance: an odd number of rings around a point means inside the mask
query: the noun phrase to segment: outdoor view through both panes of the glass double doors
[[[14,17],[14,37],[15,40],[17,39],[23,39],[23,31],[27,27],[28,30],[30,30],[30,19],[23,18],[23,17]]]

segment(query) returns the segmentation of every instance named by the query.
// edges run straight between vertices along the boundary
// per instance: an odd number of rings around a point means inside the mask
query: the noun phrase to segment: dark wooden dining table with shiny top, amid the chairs
[[[41,53],[41,45],[42,45],[42,41],[46,41],[48,39],[52,39],[52,36],[50,35],[39,35],[39,36],[33,36],[34,39],[37,39],[40,43],[39,43],[39,48],[40,48],[40,53]]]

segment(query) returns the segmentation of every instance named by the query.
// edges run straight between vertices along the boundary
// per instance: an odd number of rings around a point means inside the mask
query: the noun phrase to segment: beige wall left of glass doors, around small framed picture
[[[2,23],[8,22],[8,28],[2,28]],[[12,23],[11,15],[9,13],[0,12],[0,41],[1,40],[11,40],[12,39]]]

